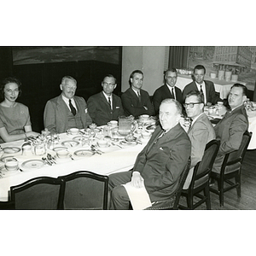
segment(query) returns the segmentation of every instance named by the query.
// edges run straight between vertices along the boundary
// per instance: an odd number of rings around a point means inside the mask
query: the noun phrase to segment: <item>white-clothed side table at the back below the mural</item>
[[[230,88],[233,84],[235,84],[235,82],[229,81],[226,82],[224,80],[218,80],[218,79],[212,79],[210,77],[205,76],[205,80],[209,80],[212,81],[212,83],[214,84],[215,87],[215,91],[219,93],[220,98],[222,99],[226,99],[229,92],[230,92]],[[177,83],[176,86],[180,89],[183,90],[184,87],[191,83],[193,80],[191,79],[190,75],[182,75],[182,74],[178,74],[177,75]],[[243,82],[236,82],[239,84],[244,84],[246,85],[246,83]]]

